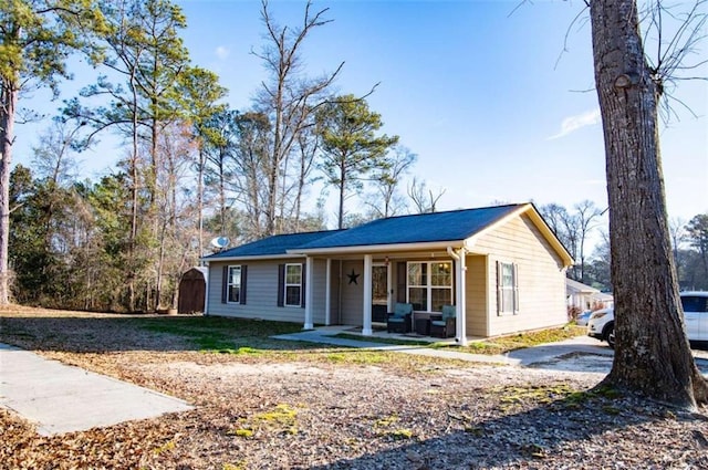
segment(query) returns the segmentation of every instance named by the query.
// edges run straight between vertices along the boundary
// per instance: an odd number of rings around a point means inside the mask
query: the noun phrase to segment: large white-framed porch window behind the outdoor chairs
[[[408,302],[421,312],[440,312],[452,303],[451,262],[409,262]]]

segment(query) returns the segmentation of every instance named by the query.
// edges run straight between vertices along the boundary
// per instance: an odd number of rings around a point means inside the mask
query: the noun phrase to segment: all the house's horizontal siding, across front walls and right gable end
[[[466,330],[468,336],[497,336],[521,331],[562,325],[566,322],[565,269],[563,261],[538,230],[531,219],[522,215],[510,219],[479,238],[470,240],[466,258]],[[398,295],[398,263],[409,261],[451,261],[449,254],[437,249],[434,252],[409,250],[392,253],[389,270],[393,301]],[[383,262],[384,258],[374,258]],[[304,263],[304,258],[288,259]],[[497,263],[513,263],[518,269],[518,311],[516,314],[497,312]],[[278,306],[278,265],[285,260],[248,262],[211,261],[209,267],[208,310],[211,315],[239,316],[304,323],[304,309]],[[221,303],[225,265],[248,267],[247,303]],[[350,274],[358,274],[356,284],[350,283]],[[312,262],[311,295],[306,303],[312,307],[315,325],[326,322],[326,259]],[[331,268],[331,324],[362,325],[364,296],[363,259],[332,260]],[[406,292],[403,292],[404,296]]]

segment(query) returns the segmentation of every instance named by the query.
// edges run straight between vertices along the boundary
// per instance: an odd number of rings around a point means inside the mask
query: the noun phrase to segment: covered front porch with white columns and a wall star
[[[324,254],[324,253],[322,253]],[[348,334],[393,335],[387,315],[397,304],[413,305],[407,340],[429,338],[467,345],[467,263],[465,248],[439,246],[426,252],[386,252],[327,257],[306,253],[304,330],[315,323],[342,325]],[[455,311],[452,337],[430,335],[430,320],[442,306]],[[449,307],[448,307],[449,309]],[[426,340],[421,340],[426,341]]]

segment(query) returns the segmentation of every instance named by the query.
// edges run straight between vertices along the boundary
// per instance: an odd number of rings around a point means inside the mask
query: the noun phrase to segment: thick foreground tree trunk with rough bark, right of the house
[[[615,359],[605,383],[685,408],[708,397],[686,338],[669,242],[657,105],[635,0],[592,0],[605,138]]]

